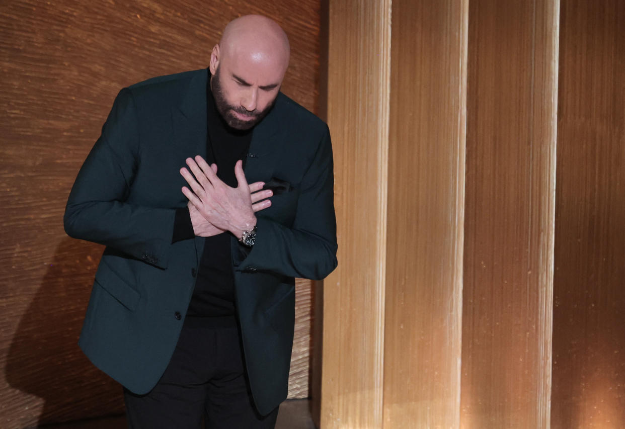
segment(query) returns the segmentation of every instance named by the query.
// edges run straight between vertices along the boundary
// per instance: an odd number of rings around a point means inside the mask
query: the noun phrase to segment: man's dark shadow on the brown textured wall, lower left
[[[98,245],[69,237],[59,243],[17,327],[6,364],[11,387],[41,398],[33,398],[29,410],[37,410],[41,402],[44,406],[38,418],[21,415],[12,420],[41,425],[123,412],[120,385],[78,347],[101,252]]]

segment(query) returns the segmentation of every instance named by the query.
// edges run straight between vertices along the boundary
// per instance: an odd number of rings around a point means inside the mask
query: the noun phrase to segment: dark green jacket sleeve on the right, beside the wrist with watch
[[[301,182],[291,228],[257,217],[256,243],[236,267],[321,280],[336,268],[332,144],[326,132]]]

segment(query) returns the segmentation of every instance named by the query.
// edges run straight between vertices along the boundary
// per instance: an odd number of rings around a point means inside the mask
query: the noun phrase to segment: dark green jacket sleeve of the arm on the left
[[[76,177],[64,227],[70,237],[166,268],[176,210],[126,202],[139,165],[140,139],[133,96],[123,89]]]

